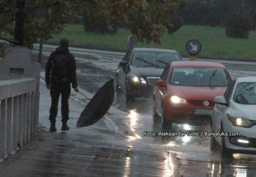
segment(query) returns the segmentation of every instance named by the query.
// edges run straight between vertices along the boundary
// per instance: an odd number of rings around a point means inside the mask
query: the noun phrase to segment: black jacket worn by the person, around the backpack
[[[62,41],[61,41],[62,42]],[[56,54],[64,54],[66,58],[68,59],[68,65],[69,65],[69,71],[68,71],[68,81],[69,83],[72,83],[72,88],[77,87],[77,81],[76,81],[76,64],[75,64],[75,58],[72,54],[70,54],[68,50],[68,43],[62,44],[61,46],[56,48],[55,52],[52,52],[50,55],[46,67],[45,67],[45,83],[46,85],[50,85],[51,82],[54,82],[54,75],[52,71],[52,61]]]

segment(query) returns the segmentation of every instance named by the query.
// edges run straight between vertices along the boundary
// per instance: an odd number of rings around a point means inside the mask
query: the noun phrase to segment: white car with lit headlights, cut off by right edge
[[[224,96],[214,98],[210,149],[221,146],[222,156],[256,153],[256,77],[233,80]]]

